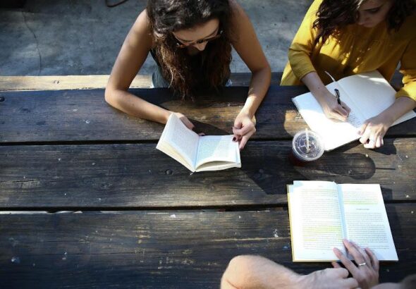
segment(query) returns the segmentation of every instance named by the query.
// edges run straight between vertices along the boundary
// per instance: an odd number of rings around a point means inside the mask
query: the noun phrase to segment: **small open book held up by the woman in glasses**
[[[240,149],[238,142],[233,142],[233,135],[197,135],[174,113],[169,116],[156,148],[192,172],[241,167]]]

